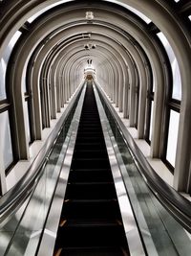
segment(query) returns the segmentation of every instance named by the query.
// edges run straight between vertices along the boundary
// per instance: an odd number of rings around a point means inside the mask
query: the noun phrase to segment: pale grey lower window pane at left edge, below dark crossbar
[[[0,151],[3,152],[3,164],[5,169],[7,169],[13,161],[8,111],[0,114],[0,138]]]

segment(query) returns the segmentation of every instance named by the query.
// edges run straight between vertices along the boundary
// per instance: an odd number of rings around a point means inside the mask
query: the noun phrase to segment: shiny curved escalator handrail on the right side
[[[143,176],[149,188],[164,207],[183,225],[186,230],[191,233],[191,202],[182,197],[173,187],[168,185],[150,166],[143,153],[139,150],[138,145],[130,135],[129,131],[117,115],[116,110],[109,102],[101,86],[96,83],[98,91],[101,93],[105,104],[111,111],[113,117],[117,121],[117,127],[122,131],[126,140],[127,147],[135,157],[135,163],[138,166],[140,174]]]

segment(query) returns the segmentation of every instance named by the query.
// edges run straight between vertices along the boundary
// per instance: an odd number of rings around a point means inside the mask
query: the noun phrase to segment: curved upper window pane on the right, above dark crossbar
[[[161,43],[163,44],[166,53],[168,55],[168,58],[171,63],[172,73],[173,73],[173,95],[172,98],[176,100],[181,100],[181,79],[180,79],[180,68],[177,61],[177,58],[175,57],[174,51],[172,47],[170,46],[168,40],[166,39],[165,35],[163,35],[161,32],[157,34],[159,36],[159,39]]]

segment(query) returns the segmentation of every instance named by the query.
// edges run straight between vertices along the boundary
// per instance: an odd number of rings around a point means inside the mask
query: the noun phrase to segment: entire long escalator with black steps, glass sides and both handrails
[[[190,211],[99,85],[86,82],[32,169],[0,199],[0,255],[190,255]]]

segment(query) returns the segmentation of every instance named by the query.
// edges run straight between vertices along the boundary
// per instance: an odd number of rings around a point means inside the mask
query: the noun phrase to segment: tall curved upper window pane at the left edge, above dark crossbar
[[[19,36],[21,35],[21,32],[17,31],[12,37],[9,45],[6,48],[6,51],[4,53],[3,58],[0,59],[0,101],[7,98],[6,94],[6,70],[8,61],[11,56],[12,48],[14,47],[14,44],[18,40]]]

